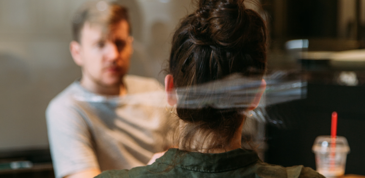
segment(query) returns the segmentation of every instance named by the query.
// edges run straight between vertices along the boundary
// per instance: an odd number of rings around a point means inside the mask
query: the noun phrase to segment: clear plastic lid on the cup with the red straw
[[[313,144],[312,151],[314,153],[318,152],[328,152],[331,147],[331,136],[330,135],[321,135],[318,136]],[[347,139],[342,136],[336,136],[336,152],[350,152],[349,144],[347,143]]]

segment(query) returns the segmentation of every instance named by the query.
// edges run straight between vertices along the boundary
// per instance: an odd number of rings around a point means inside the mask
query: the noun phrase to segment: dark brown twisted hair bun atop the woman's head
[[[191,32],[195,33],[195,43],[200,45],[219,45],[226,48],[245,48],[251,41],[262,41],[266,34],[257,33],[265,26],[261,16],[252,9],[247,9],[244,0],[200,0],[195,11],[195,20],[191,23]]]

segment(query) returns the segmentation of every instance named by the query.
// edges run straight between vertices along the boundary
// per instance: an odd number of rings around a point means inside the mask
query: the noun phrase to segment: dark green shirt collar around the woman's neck
[[[259,161],[253,150],[235,149],[224,153],[207,154],[169,149],[156,162],[200,172],[223,172],[245,167]]]

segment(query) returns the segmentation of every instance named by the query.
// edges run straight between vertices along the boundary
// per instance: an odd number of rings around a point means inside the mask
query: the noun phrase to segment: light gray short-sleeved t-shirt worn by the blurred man
[[[166,149],[164,92],[155,79],[124,77],[127,95],[102,96],[75,81],[51,100],[47,128],[55,175],[144,166]]]

